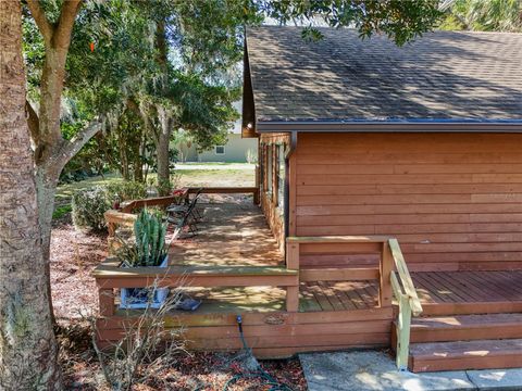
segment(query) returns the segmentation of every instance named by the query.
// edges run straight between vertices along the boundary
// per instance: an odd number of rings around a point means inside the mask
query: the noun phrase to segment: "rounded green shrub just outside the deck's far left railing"
[[[72,198],[73,224],[77,229],[107,230],[103,213],[112,209],[116,201],[144,199],[147,195],[144,184],[122,181],[78,190]]]

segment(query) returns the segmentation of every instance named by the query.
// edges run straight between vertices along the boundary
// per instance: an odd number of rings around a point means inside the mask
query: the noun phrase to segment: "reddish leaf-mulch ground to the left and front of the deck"
[[[51,238],[51,285],[58,339],[67,389],[103,390],[103,378],[85,319],[96,314],[94,268],[107,256],[107,237],[76,231],[65,215],[54,223]],[[181,353],[169,370],[153,374],[133,390],[222,390],[243,373],[234,353]],[[307,384],[297,358],[263,361],[263,369],[293,390]],[[108,389],[108,388],[107,388]],[[108,389],[109,390],[109,389]],[[240,378],[228,390],[269,390],[262,379]]]

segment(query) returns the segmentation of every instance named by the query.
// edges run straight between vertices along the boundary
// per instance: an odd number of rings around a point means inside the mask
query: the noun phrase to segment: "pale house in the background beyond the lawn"
[[[241,103],[235,104],[236,110],[241,112]],[[195,143],[182,143],[172,146],[177,150],[177,159],[181,162],[224,162],[224,163],[252,163],[258,159],[258,140],[241,137],[241,119],[234,124],[223,146],[213,146],[210,150],[198,153]]]

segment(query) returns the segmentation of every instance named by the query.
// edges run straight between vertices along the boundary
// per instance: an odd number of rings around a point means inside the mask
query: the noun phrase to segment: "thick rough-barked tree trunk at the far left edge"
[[[0,389],[60,390],[25,118],[18,1],[0,1]]]

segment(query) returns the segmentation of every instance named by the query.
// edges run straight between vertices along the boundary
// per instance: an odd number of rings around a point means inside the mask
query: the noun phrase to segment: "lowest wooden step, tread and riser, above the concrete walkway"
[[[412,343],[414,373],[522,367],[522,339]]]

